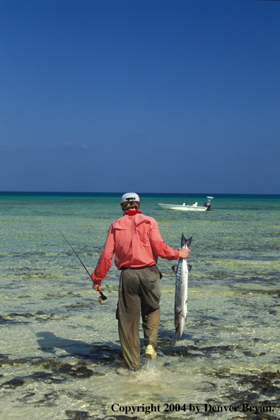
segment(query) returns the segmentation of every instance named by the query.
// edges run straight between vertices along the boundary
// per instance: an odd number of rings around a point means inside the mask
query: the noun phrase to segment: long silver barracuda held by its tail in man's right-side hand
[[[192,236],[186,239],[182,233],[181,248],[189,248],[191,242]],[[180,258],[177,266],[173,266],[172,268],[176,274],[175,334],[178,334],[180,338],[187,322],[187,281],[192,266],[187,263],[187,259]]]

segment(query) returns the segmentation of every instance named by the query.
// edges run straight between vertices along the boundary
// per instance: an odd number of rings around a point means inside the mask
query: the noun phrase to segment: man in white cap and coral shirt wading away
[[[93,288],[100,292],[101,280],[112,266],[112,257],[115,254],[115,264],[122,270],[116,314],[119,340],[125,365],[127,368],[139,370],[140,310],[146,345],[145,356],[156,358],[162,277],[156,267],[158,256],[169,261],[179,257],[187,258],[189,249],[176,251],[165,244],[156,220],[142,215],[139,210],[140,200],[137,194],[122,195],[119,204],[124,215],[112,222],[91,278]]]

